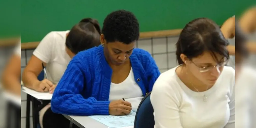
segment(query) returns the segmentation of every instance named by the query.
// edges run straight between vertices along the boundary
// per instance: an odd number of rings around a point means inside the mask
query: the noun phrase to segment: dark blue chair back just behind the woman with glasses
[[[134,120],[134,128],[154,128],[154,109],[150,102],[149,92],[140,102]]]

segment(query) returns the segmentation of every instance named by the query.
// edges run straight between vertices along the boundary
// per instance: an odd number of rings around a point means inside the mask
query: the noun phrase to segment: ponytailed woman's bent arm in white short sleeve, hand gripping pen
[[[46,66],[52,57],[54,46],[54,32],[48,33],[37,46],[22,74],[24,86],[38,92],[49,91],[52,82],[49,80],[39,81],[37,76],[43,70],[42,63]],[[47,88],[46,90],[45,87]]]

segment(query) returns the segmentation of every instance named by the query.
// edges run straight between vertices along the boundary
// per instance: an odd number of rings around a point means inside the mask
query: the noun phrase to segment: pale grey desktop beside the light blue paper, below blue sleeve
[[[73,122],[75,125],[77,125],[80,128],[108,128],[106,125],[88,117],[88,116],[70,116],[65,115],[65,118]]]

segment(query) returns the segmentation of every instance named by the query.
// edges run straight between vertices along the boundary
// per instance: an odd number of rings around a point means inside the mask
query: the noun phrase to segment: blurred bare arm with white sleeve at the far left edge
[[[18,42],[2,74],[2,86],[7,91],[21,96],[21,42]]]

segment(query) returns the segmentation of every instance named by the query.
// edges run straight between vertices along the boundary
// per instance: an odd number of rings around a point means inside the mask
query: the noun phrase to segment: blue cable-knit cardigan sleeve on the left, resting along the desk
[[[84,99],[81,95],[86,84],[88,64],[80,61],[70,61],[53,93],[52,111],[67,115],[108,115],[109,101],[97,101],[93,97]]]

